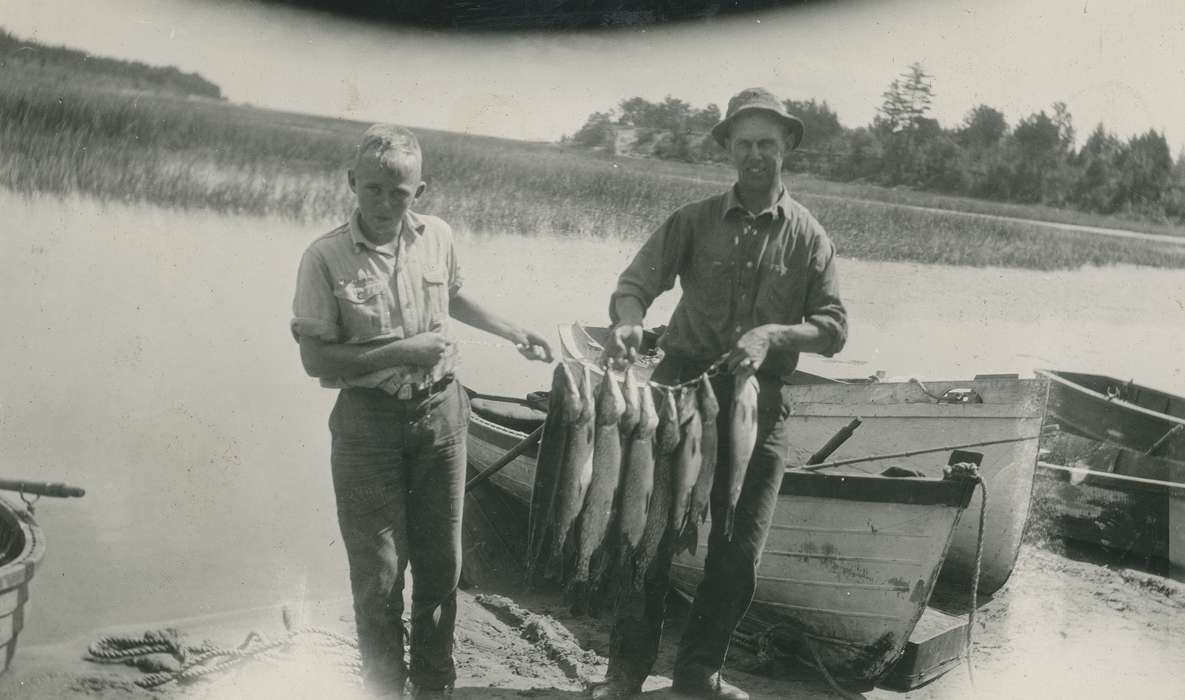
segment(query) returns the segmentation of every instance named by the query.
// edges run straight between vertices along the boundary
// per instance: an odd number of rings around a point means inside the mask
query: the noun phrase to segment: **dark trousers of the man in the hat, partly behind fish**
[[[685,366],[665,360],[653,379],[672,384],[690,379],[702,367]],[[729,640],[737,623],[744,617],[756,590],[756,571],[766,535],[774,518],[782,471],[787,461],[786,417],[788,403],[782,396],[782,383],[758,377],[757,447],[745,473],[737,503],[731,541],[724,537],[724,514],[728,508],[728,484],[724,475],[729,468],[729,435],[732,404],[732,377],[722,374],[712,379],[720,404],[717,420],[719,450],[716,481],[711,494],[711,533],[704,579],[696,591],[696,599],[675,657],[674,677],[685,681],[710,679],[724,667]],[[670,497],[670,475],[655,474],[654,497]],[[666,493],[661,487],[666,486]],[[658,659],[666,598],[670,592],[671,560],[674,557],[674,532],[667,532],[658,554],[646,571],[642,591],[627,590],[619,597],[609,650],[610,680],[640,686],[649,675]]]

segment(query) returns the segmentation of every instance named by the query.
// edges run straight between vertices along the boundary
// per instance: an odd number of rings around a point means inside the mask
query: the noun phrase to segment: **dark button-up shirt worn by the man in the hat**
[[[683,287],[659,340],[667,354],[705,366],[745,332],[767,323],[813,323],[833,355],[847,339],[835,249],[819,221],[783,190],[766,211],[744,208],[735,190],[684,206],[649,237],[617,280],[609,304],[633,296],[643,309]],[[770,351],[761,372],[789,380],[799,353]]]

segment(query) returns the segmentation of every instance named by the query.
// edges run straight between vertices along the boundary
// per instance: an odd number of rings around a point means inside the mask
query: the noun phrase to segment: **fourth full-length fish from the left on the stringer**
[[[626,373],[626,416],[619,428],[624,431],[629,416],[629,385],[633,374]],[[648,386],[634,388],[638,391],[638,424],[624,434],[626,460],[621,475],[621,507],[617,516],[617,539],[622,552],[630,554],[638,548],[646,528],[646,514],[651,507],[651,494],[654,492],[654,431],[659,425],[658,410],[654,407],[654,392]]]

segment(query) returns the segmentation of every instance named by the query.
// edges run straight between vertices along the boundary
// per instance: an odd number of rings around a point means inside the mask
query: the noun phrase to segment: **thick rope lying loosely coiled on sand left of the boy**
[[[252,659],[275,656],[287,649],[300,637],[312,637],[310,643],[328,648],[358,649],[358,642],[338,632],[318,627],[293,629],[277,640],[267,640],[258,632],[249,632],[238,647],[217,647],[210,642],[186,646],[180,642],[180,632],[174,629],[148,631],[137,637],[110,636],[90,646],[90,660],[100,663],[134,663],[152,654],[168,654],[179,663],[179,668],[150,673],[135,683],[141,688],[158,688],[166,683],[187,683],[203,676],[226,670]],[[347,666],[354,666],[348,663]]]

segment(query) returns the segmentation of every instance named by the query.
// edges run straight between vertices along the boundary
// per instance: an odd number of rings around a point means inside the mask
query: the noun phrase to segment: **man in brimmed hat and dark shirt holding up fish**
[[[671,216],[622,272],[609,303],[614,322],[609,353],[635,357],[646,309],[678,278],[683,297],[660,346],[654,380],[677,383],[726,357],[728,373],[713,379],[722,411],[712,528],[704,579],[696,591],[673,673],[673,689],[694,698],[748,698],[720,677],[729,638],[756,589],[756,567],[786,467],[788,402],[784,383],[799,353],[832,355],[847,336],[839,298],[835,249],[822,226],[782,182],[782,162],[802,140],[802,122],[764,89],[729,102],[712,129],[737,172],[723,194]],[[756,371],[760,383],[757,447],[737,503],[731,539],[724,535],[728,493],[731,372]],[[597,698],[640,692],[658,654],[668,570],[678,533],[668,532],[646,572],[645,590],[619,601],[606,682]]]

